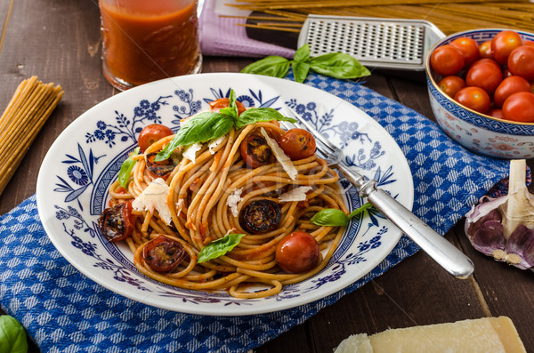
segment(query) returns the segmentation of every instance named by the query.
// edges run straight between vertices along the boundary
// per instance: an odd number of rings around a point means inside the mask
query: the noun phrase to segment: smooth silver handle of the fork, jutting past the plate
[[[376,181],[362,183],[360,176],[354,175],[347,168],[342,167],[339,170],[359,189],[360,196],[367,195],[371,205],[374,205],[443,269],[458,278],[466,278],[473,273],[473,262],[465,253],[460,252],[455,245],[450,244],[447,239],[441,237],[383,189],[377,189]]]

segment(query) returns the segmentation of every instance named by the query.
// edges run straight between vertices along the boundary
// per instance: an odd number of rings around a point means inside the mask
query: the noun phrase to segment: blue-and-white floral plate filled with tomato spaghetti
[[[359,108],[284,79],[201,74],[122,92],[70,124],[37,179],[44,229],[86,277],[158,308],[251,315],[336,293],[401,231],[295,114],[411,208],[406,158]]]

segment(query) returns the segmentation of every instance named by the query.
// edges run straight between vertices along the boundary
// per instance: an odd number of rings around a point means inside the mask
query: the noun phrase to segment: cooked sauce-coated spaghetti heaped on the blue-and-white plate
[[[279,124],[257,122],[233,127],[215,141],[198,144],[194,160],[185,157],[186,149],[191,147],[176,148],[174,156],[182,159],[165,181],[156,178],[147,161],[165,148],[174,135],[151,144],[142,154],[131,156],[136,164],[128,176],[127,189],[119,181],[114,182],[109,190],[110,205],[132,200],[136,205],[146,190],[159,182],[159,190],[166,190],[161,192],[165,193],[169,211],[165,215],[154,207],[141,211],[134,207],[135,229],[125,241],[134,253],[135,266],[144,275],[181,288],[258,298],[279,293],[283,285],[302,281],[324,269],[341,241],[344,227],[318,226],[310,220],[325,208],[348,214],[337,184],[338,175],[314,153],[291,162],[296,175],[287,172],[279,160],[247,167],[240,147],[258,131],[278,136],[284,133]],[[306,194],[301,195],[301,201],[292,201],[292,193],[301,188],[306,188]],[[276,228],[255,234],[244,229],[240,217],[248,205],[258,200],[276,204],[281,217]],[[276,251],[279,243],[295,231],[315,238],[321,253],[312,269],[287,273],[280,269]],[[198,253],[203,248],[231,233],[244,234],[231,252],[198,263]],[[146,258],[150,242],[161,235],[183,248],[183,260],[170,271],[155,270]]]

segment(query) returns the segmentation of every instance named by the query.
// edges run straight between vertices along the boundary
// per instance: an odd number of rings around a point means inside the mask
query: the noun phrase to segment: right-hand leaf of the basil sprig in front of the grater
[[[310,68],[320,74],[336,78],[358,78],[371,75],[368,68],[349,54],[331,52],[307,61]]]

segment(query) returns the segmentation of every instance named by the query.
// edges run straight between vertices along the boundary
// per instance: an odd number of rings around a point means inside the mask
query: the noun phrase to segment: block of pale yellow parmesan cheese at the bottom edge
[[[470,352],[521,353],[526,350],[509,317],[483,317],[456,323],[355,334],[335,353]]]

